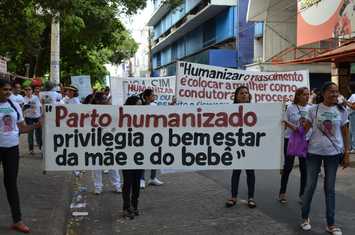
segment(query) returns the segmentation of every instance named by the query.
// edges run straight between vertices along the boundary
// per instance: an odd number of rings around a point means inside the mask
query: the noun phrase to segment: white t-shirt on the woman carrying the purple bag
[[[305,106],[290,104],[289,106],[287,106],[287,110],[286,110],[287,121],[289,121],[296,127],[301,126],[301,122],[306,120],[310,108],[311,105],[309,104],[306,104]],[[290,138],[291,134],[292,134],[292,129],[287,128],[285,132],[285,138],[286,139]],[[311,130],[308,131],[306,139],[309,139],[310,135],[311,135]]]

